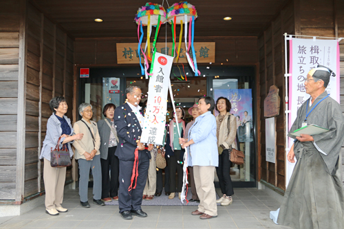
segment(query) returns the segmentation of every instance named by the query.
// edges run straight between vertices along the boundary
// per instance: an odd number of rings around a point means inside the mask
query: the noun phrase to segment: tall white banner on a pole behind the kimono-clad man
[[[290,41],[290,70],[289,77],[289,129],[297,118],[297,110],[305,100],[310,98],[305,93],[305,79],[310,69],[324,65],[334,71],[335,77],[330,77],[326,91],[340,102],[339,92],[339,45],[337,40],[292,39]]]

